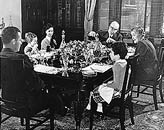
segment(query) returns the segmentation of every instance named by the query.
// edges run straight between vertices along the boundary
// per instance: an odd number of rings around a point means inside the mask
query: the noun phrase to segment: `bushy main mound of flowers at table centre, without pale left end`
[[[103,57],[109,56],[109,49],[102,45],[100,41],[92,40],[70,41],[59,49],[64,66],[79,69],[93,62],[100,62]]]

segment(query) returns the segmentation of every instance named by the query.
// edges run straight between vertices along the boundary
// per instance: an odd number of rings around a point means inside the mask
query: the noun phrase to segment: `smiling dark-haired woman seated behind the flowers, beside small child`
[[[45,38],[41,41],[41,50],[51,51],[55,49],[57,45],[56,40],[53,39],[54,28],[53,26],[48,23],[44,28],[43,31],[45,33]]]

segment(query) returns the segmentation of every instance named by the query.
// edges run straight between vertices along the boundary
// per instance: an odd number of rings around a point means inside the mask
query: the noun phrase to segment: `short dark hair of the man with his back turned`
[[[20,30],[14,26],[4,28],[2,31],[2,42],[3,42],[3,44],[8,44],[13,39],[18,39],[18,32],[20,32]]]

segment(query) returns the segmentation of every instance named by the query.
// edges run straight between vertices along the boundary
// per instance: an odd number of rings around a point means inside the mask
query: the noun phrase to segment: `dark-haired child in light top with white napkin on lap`
[[[113,81],[108,81],[100,86],[96,87],[91,93],[90,98],[93,96],[94,101],[97,103],[97,111],[102,111],[102,102],[111,102],[112,97],[120,94],[123,86],[124,75],[126,70],[127,62],[125,56],[127,55],[127,48],[124,42],[115,42],[111,45],[111,60],[114,62],[113,70]],[[90,110],[90,101],[87,106]]]

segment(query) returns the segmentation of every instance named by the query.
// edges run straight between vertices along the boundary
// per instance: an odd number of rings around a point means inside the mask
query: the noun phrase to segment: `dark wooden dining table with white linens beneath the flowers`
[[[46,66],[42,64],[34,65],[34,70],[38,73],[41,79],[44,80],[48,90],[55,89],[59,95],[69,94],[74,95],[73,110],[76,122],[76,130],[80,130],[80,122],[82,113],[86,108],[86,101],[89,98],[89,92],[93,88],[106,80],[112,79],[112,65],[103,63],[92,63],[79,71],[68,70],[68,75],[63,75],[63,68]]]

